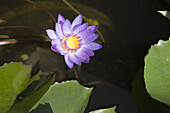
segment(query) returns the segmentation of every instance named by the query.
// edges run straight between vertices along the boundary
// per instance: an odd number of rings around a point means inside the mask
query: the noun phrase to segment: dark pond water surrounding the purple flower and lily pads
[[[71,20],[77,15],[61,0],[35,2],[55,18],[58,13]],[[136,75],[144,66],[143,59],[150,46],[170,36],[170,21],[157,13],[159,9],[170,8],[168,1],[70,0],[69,3],[86,17],[97,20],[105,39],[103,48],[95,52],[90,63],[77,67],[83,82],[103,81],[95,86],[86,112],[117,105],[121,113],[169,113],[168,106],[147,94],[142,71]],[[45,29],[54,29],[54,22],[42,9],[24,0],[1,1],[0,19],[5,20],[0,27],[32,27],[0,29],[0,35],[18,40],[16,44],[0,47],[0,65],[22,61],[33,65],[33,73],[39,69],[56,72],[58,81],[75,78],[72,71],[65,74],[68,68],[63,56],[52,52],[50,42],[44,38]],[[9,40],[5,37],[1,36],[0,40]]]

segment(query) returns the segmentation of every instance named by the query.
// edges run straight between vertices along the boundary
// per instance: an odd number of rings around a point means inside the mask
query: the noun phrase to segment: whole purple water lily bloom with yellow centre
[[[69,68],[73,64],[81,65],[81,62],[88,63],[89,56],[94,56],[93,51],[102,46],[93,42],[97,39],[97,25],[89,26],[88,23],[82,23],[82,15],[78,15],[72,22],[59,14],[58,23],[55,30],[47,29],[47,35],[52,39],[51,49],[64,55],[65,62]]]

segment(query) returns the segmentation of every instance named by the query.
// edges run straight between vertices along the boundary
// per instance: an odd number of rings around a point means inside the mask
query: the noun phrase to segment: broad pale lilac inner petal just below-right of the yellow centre
[[[81,60],[90,60],[88,54],[86,53],[86,50],[83,48],[80,48],[76,53],[75,56],[78,57]]]

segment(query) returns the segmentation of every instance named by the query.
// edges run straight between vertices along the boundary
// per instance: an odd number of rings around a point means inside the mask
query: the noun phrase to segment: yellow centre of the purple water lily
[[[68,52],[76,52],[82,45],[81,41],[76,35],[68,35],[61,42],[62,48]]]

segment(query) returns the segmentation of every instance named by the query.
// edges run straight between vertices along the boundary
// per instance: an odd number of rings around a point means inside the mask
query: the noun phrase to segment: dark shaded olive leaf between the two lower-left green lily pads
[[[12,106],[12,108],[8,111],[8,113],[28,113],[29,112],[29,110],[38,102],[38,100],[48,90],[50,85],[53,84],[55,81],[55,75],[51,75],[51,76],[44,75],[44,76],[46,76],[46,81],[40,79],[39,81],[36,81],[37,85],[31,85],[29,88],[27,88],[26,90],[28,90],[28,91],[26,91],[26,92],[30,92],[30,89],[33,89],[33,93],[28,95],[27,97],[25,97],[23,100],[17,101]],[[42,81],[44,81],[43,84],[41,83]],[[42,84],[42,85],[40,85],[40,84]],[[39,86],[39,88],[36,88],[35,86]],[[35,90],[35,88],[37,90]]]

